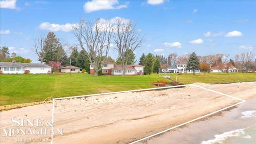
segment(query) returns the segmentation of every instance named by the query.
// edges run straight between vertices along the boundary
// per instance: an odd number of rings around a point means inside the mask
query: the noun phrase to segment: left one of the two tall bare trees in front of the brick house
[[[87,59],[94,69],[94,76],[98,76],[98,71],[102,69],[109,52],[113,34],[112,24],[101,22],[99,19],[95,22],[82,19],[77,26],[73,27],[73,33],[81,48],[86,51]]]

